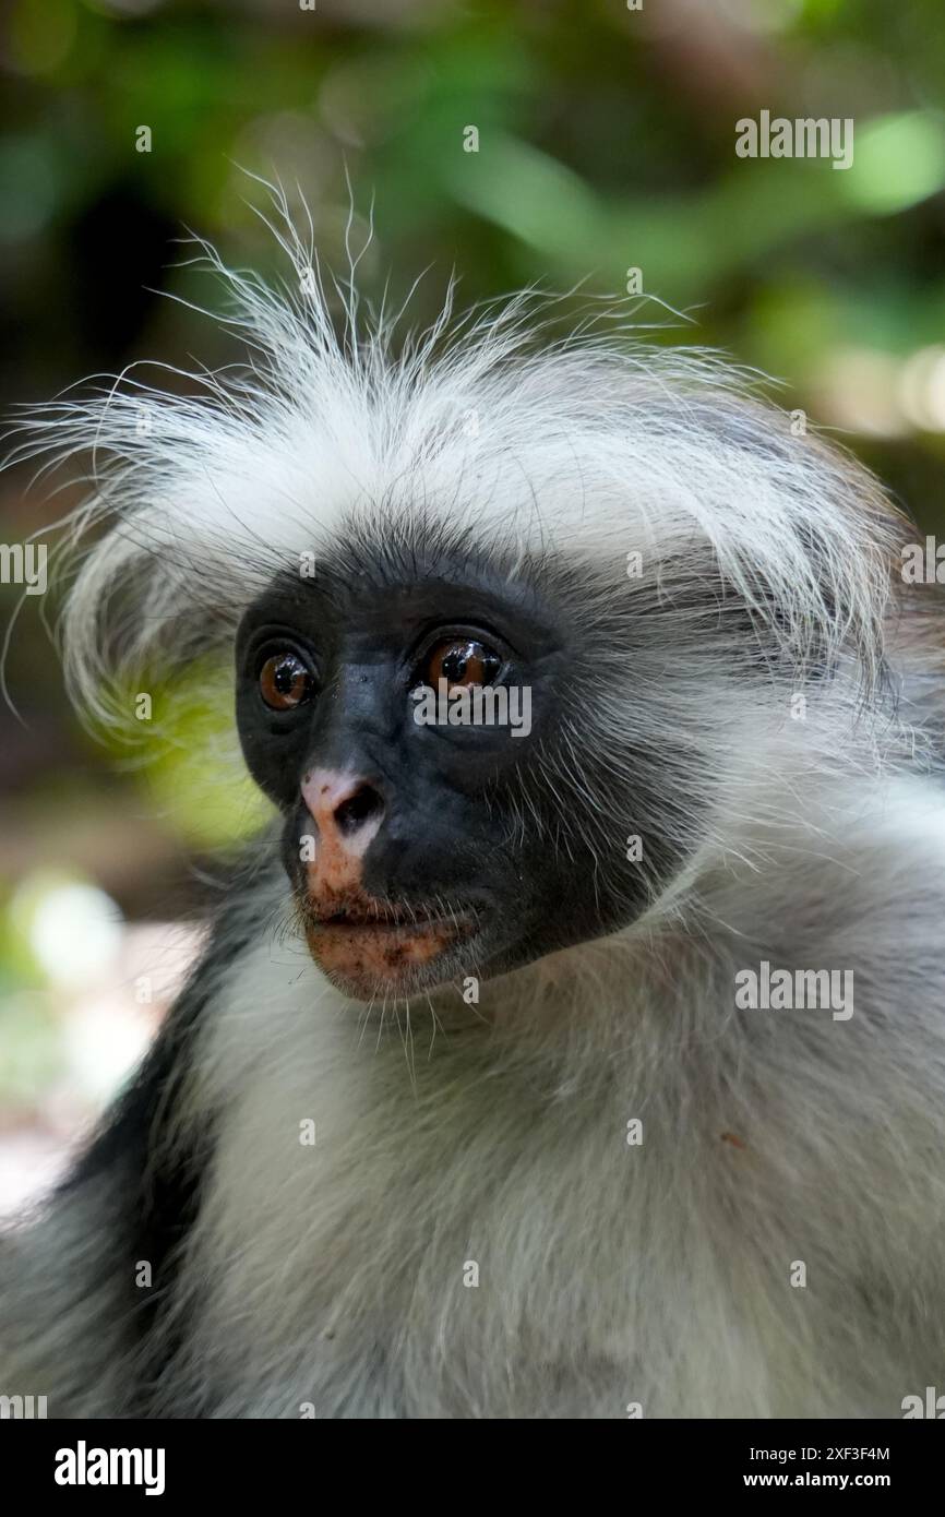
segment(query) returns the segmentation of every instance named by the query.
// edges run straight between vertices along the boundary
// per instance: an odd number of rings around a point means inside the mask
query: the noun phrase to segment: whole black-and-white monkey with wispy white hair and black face
[[[0,1390],[71,1418],[901,1415],[945,1368],[943,622],[898,573],[913,529],[728,360],[452,291],[394,341],[279,235],[299,290],[208,253],[244,369],[27,423],[97,455],[62,630],[85,719],[224,655],[272,822],[3,1239]],[[528,692],[528,730],[420,721],[423,690]]]

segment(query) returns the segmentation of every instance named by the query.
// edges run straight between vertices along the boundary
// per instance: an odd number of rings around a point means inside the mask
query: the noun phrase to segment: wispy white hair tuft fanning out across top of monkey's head
[[[226,642],[278,569],[366,520],[405,542],[449,523],[513,558],[639,551],[670,605],[731,599],[798,678],[849,657],[875,686],[901,526],[866,470],[752,396],[757,375],[643,343],[619,305],[555,337],[534,291],[455,316],[451,284],[402,335],[402,311],[359,300],[358,255],[326,276],[273,200],[279,284],[199,244],[243,366],[187,375],[190,394],[129,372],[21,423],[15,457],[91,458],[64,616],[89,718],[123,721],[129,681]]]

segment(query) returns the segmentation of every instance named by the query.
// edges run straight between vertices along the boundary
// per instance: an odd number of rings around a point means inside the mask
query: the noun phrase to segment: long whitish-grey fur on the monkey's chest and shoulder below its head
[[[441,995],[366,1024],[291,938],[234,966],[193,1069],[226,1115],[167,1409],[206,1385],[218,1415],[898,1415],[936,1384],[945,813],[910,781],[857,816],[807,799],[763,868],[704,860],[689,931],[552,956],[484,986],[482,1021]],[[734,1013],[798,890],[798,962],[854,966],[849,1022]]]

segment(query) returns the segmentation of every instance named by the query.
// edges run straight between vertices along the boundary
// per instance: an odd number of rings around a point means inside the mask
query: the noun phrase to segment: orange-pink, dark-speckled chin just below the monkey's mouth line
[[[461,969],[475,922],[337,924],[309,921],[308,951],[344,995],[372,1001],[431,991]]]

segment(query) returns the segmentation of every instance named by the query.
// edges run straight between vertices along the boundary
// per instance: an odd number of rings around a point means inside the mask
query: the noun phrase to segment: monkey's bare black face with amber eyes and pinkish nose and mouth
[[[285,815],[316,959],[352,994],[410,992],[625,922],[642,898],[640,866],[623,856],[633,819],[610,818],[602,868],[607,796],[587,825],[576,807],[595,784],[593,742],[582,760],[573,749],[595,649],[567,595],[552,613],[546,566],[540,592],[460,552],[375,554],[370,567],[361,554],[273,581],[237,643],[243,751]],[[420,687],[446,692],[443,715],[457,690],[484,686],[513,693],[513,722],[416,719]],[[604,789],[604,771],[596,780]],[[306,836],[314,863],[300,856]],[[432,933],[420,945],[408,942],[414,918]]]

